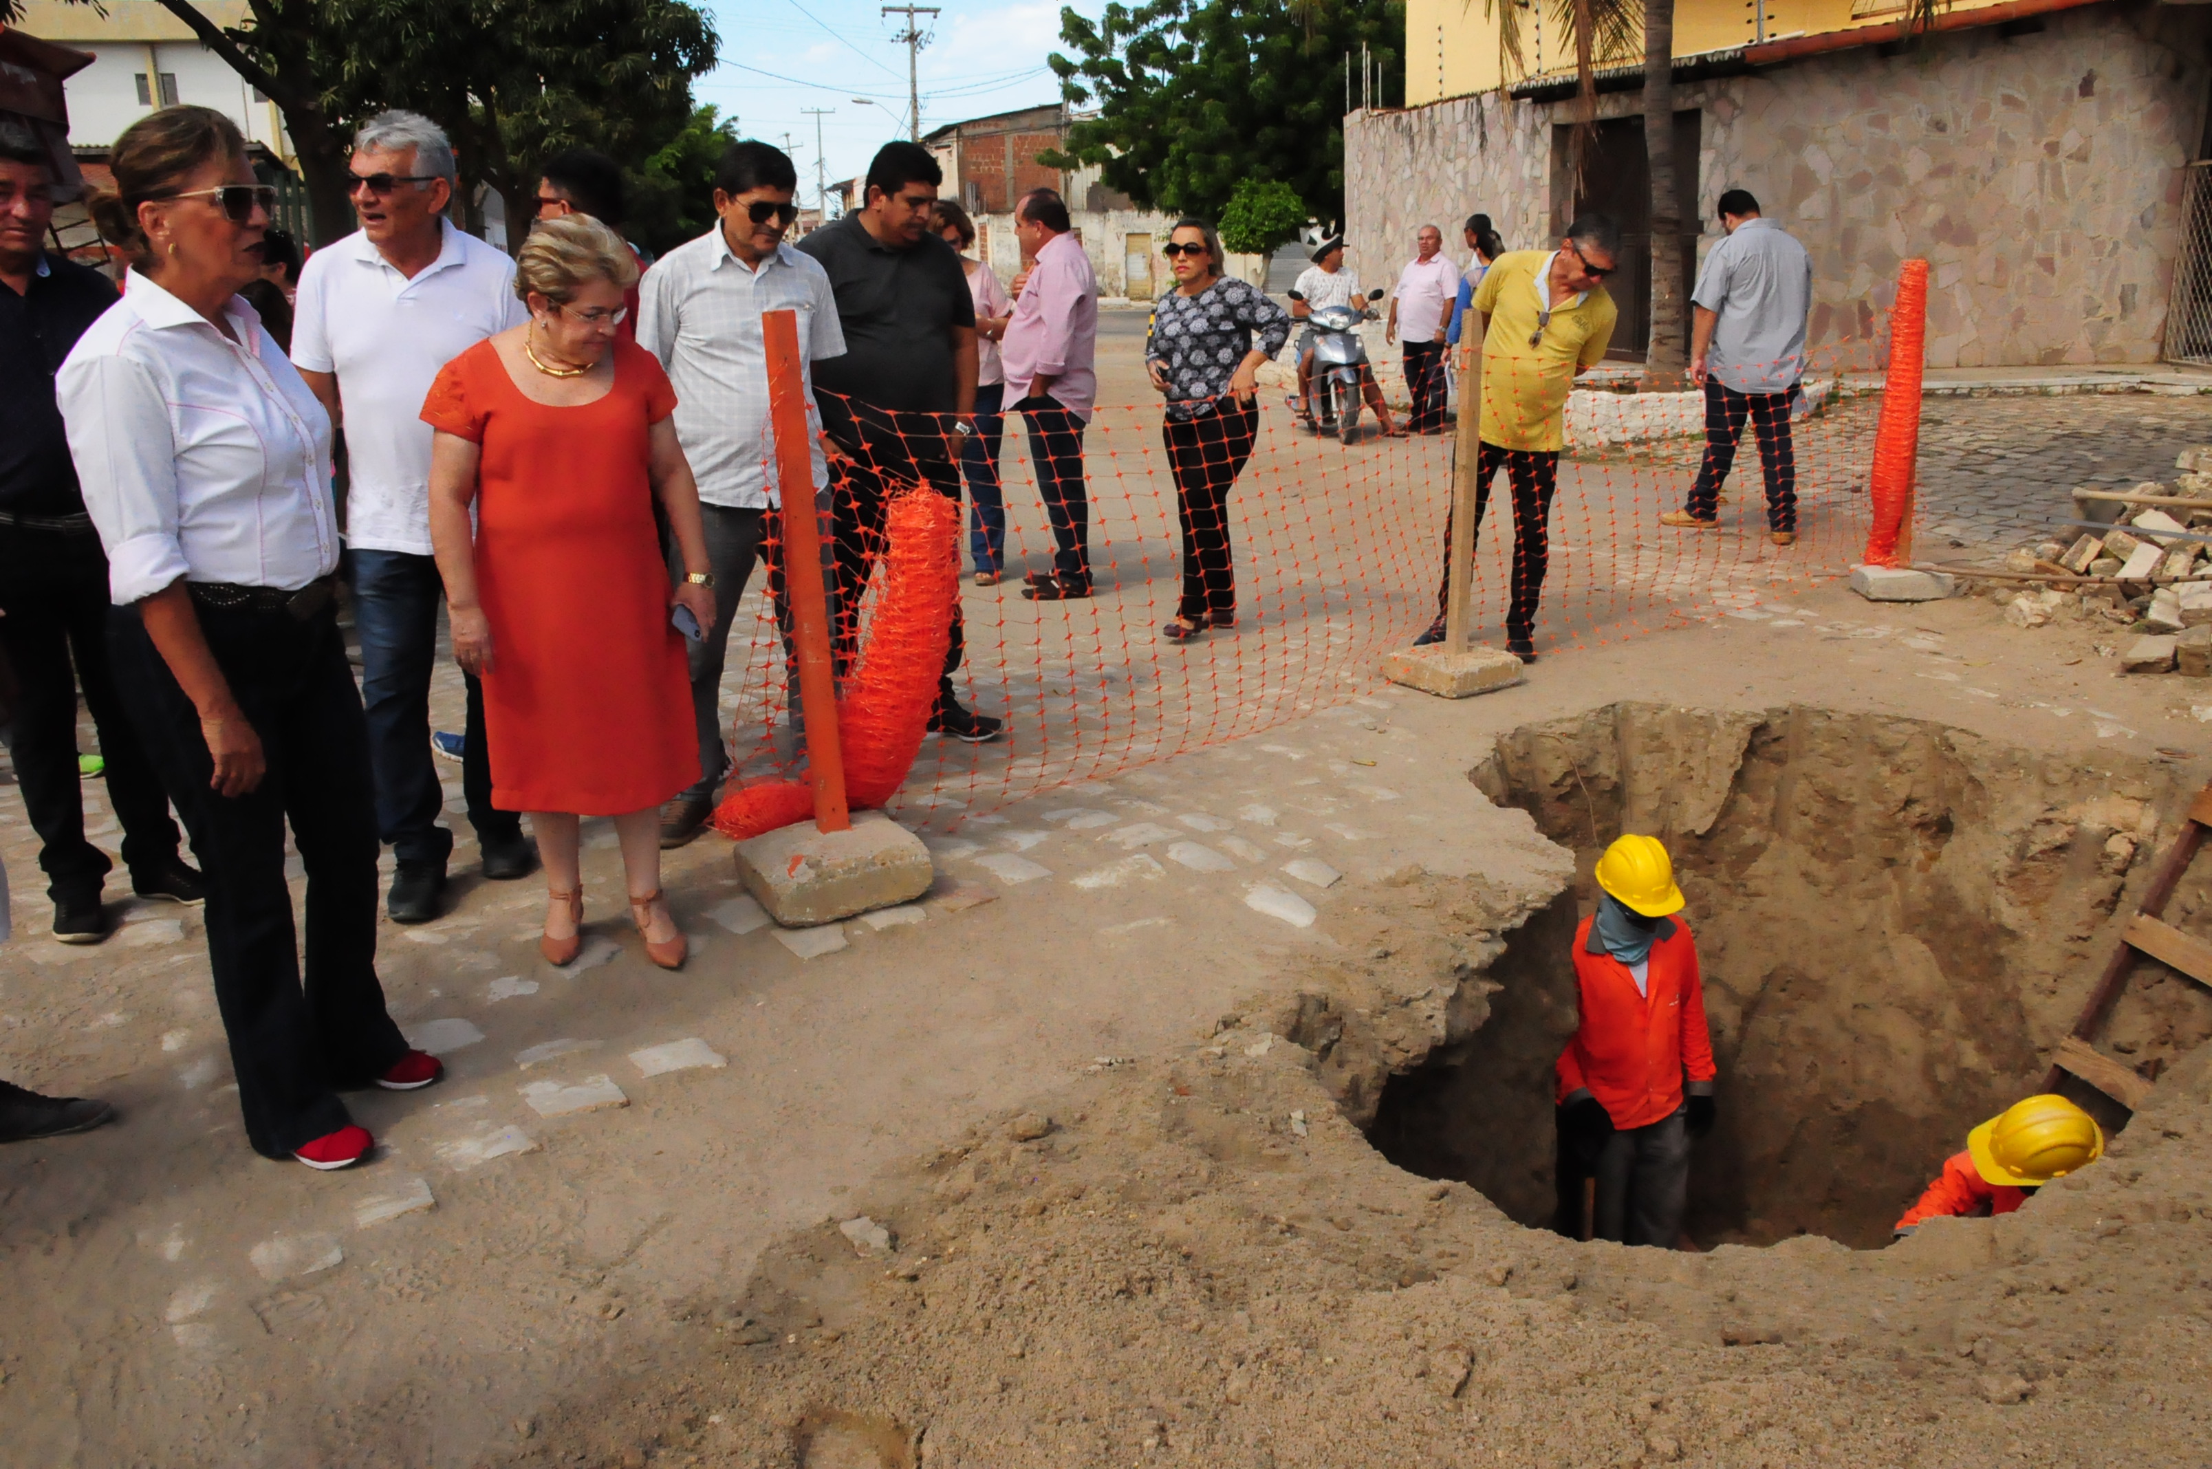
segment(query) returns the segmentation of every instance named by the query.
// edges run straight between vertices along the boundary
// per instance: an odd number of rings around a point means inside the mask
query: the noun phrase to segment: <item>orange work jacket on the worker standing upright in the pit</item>
[[[1661,918],[1646,993],[1628,965],[1606,954],[1597,918],[1575,929],[1575,984],[1582,1027],[1559,1053],[1559,1102],[1588,1091],[1617,1128],[1646,1128],[1681,1106],[1683,1075],[1712,1091],[1712,1035],[1697,945],[1681,918]]]

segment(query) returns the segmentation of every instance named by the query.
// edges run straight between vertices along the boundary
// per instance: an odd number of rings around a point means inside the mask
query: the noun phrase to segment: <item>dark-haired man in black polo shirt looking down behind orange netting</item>
[[[843,456],[836,476],[836,666],[858,650],[860,593],[883,549],[883,500],[922,482],[960,500],[958,438],[975,431],[975,301],[967,270],[929,228],[945,170],[920,144],[885,144],[867,166],[867,206],[799,241],[836,294],[845,356],[814,363],[823,429]],[[1004,721],[953,699],[960,604],[929,728],[953,739],[998,739]]]

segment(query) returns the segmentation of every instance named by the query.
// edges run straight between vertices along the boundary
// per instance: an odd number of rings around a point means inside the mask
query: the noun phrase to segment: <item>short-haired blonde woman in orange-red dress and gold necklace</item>
[[[661,900],[659,805],[699,781],[675,624],[714,622],[714,577],[675,389],[650,352],[617,341],[635,281],[606,226],[540,223],[515,259],[531,321],[447,363],[422,418],[438,429],[429,524],[453,659],[484,681],[491,799],[531,814],[546,865],[540,949],[575,958],[577,816],[613,816],[646,956],[675,969],[686,945]],[[672,588],[655,498],[688,573]]]

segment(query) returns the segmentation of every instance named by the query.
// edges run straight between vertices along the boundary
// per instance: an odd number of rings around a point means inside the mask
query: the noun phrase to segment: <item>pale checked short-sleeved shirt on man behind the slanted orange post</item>
[[[776,246],[759,270],[730,254],[721,223],[653,263],[639,283],[637,345],[661,361],[677,389],[677,442],[699,500],[728,509],[781,504],[776,438],[768,423],[768,345],[761,312],[799,312],[799,372],[807,400],[814,489],[830,485],[814,363],[845,356],[830,272],[812,254]]]

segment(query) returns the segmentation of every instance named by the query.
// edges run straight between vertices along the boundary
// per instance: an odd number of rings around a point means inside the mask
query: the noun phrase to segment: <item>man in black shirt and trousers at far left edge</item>
[[[20,697],[9,735],[15,781],[44,850],[53,936],[108,936],[100,885],[108,856],[84,838],[77,788],[77,684],[100,730],[124,865],[142,898],[199,903],[199,874],[177,856],[168,796],[115,701],[108,677],[108,560],[77,493],[53,374],[115,305],[97,270],[46,254],[53,186],[46,153],[0,122],[0,650]],[[75,659],[75,675],[71,673]]]

